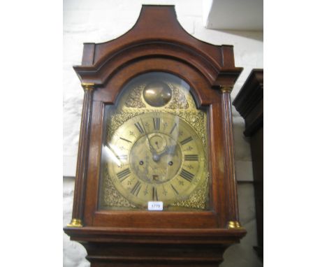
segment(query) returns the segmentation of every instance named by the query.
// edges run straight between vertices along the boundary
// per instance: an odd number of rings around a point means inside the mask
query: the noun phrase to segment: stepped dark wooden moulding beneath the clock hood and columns
[[[66,229],[84,245],[92,267],[219,266],[245,229]]]

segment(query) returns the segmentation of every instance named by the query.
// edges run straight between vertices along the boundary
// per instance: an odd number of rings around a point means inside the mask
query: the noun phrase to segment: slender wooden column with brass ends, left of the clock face
[[[85,185],[87,179],[87,157],[89,154],[89,133],[91,131],[93,83],[82,83],[84,89],[84,101],[82,109],[82,120],[80,124],[80,142],[78,146],[78,168],[75,178],[75,192],[73,202],[73,215],[71,223],[67,226],[82,227],[84,205],[85,205]]]

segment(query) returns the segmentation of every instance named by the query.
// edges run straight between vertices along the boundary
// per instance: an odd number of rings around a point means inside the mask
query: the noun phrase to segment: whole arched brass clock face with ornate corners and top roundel
[[[147,73],[123,89],[105,112],[99,208],[208,209],[206,113],[188,85]]]

